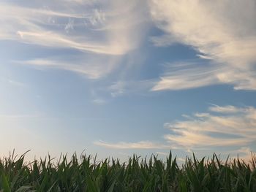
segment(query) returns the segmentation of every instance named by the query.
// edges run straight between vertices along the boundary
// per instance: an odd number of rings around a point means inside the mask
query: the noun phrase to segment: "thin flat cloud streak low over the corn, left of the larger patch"
[[[154,142],[141,141],[141,142],[94,142],[94,145],[99,145],[101,147],[113,148],[113,149],[162,149],[170,148],[170,145],[162,145]]]

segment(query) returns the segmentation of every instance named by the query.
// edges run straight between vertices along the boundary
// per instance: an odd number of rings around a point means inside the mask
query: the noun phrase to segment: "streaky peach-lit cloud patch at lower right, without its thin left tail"
[[[165,127],[172,131],[172,134],[165,135],[167,142],[184,148],[245,147],[255,142],[255,108],[217,106],[210,107],[209,110],[217,115],[195,113],[188,120],[166,123]]]

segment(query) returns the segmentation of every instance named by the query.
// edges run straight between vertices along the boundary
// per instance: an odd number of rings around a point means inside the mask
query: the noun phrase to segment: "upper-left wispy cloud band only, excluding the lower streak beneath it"
[[[72,6],[71,2],[69,4]],[[92,53],[123,55],[137,46],[140,30],[135,28],[139,29],[138,24],[141,20],[135,20],[136,17],[140,18],[138,10],[133,9],[136,6],[135,2],[127,7],[116,7],[114,4],[110,1],[110,9],[105,10],[105,13],[102,10],[91,10],[91,7],[85,7],[80,13],[69,13],[69,9],[52,11],[50,8],[1,4],[0,38],[48,47],[67,47]],[[49,18],[56,20],[54,25],[49,22]],[[67,23],[61,18],[67,18]],[[97,37],[91,33],[89,26],[83,26],[86,20],[94,26],[91,29],[96,30]],[[95,28],[99,22],[102,26]],[[124,22],[129,24],[123,25]],[[79,30],[77,28],[75,34],[65,34],[67,26],[75,30],[75,25],[83,27]]]

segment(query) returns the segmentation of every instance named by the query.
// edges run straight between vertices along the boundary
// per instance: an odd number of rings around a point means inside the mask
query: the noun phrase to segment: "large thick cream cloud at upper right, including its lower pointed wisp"
[[[200,53],[199,57],[210,59],[217,69],[211,71],[197,66],[178,74],[167,73],[152,90],[197,88],[218,83],[231,84],[237,90],[256,89],[255,1],[152,0],[151,16],[165,31],[162,37],[153,38],[155,45],[175,42],[190,45]],[[197,70],[207,75],[198,74]]]

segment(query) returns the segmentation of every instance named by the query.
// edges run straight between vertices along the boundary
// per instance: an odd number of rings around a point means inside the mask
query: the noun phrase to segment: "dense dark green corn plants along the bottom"
[[[56,161],[55,161],[56,162]],[[152,155],[148,160],[136,156],[125,164],[91,156],[64,155],[24,163],[24,155],[0,160],[0,191],[256,191],[256,156],[245,161],[221,162],[217,155],[206,161],[187,158],[178,166],[170,153],[166,161]]]

